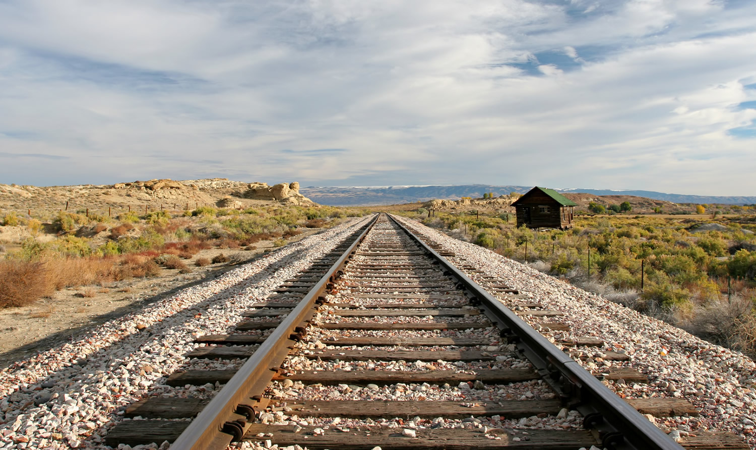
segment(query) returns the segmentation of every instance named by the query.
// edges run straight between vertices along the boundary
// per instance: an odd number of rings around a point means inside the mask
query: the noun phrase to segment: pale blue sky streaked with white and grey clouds
[[[752,0],[0,0],[0,183],[756,195]]]

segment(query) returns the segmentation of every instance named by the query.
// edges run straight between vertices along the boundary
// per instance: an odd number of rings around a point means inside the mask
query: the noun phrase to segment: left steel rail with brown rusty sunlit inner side
[[[345,265],[358,245],[364,240],[370,228],[378,219],[377,215],[365,226],[364,231],[351,246],[328,269],[328,272],[314,285],[312,290],[300,300],[281,324],[265,339],[256,352],[231,377],[231,380],[212,398],[197,417],[191,421],[181,436],[171,445],[172,450],[208,450],[226,448],[234,439],[240,439],[246,421],[251,420],[254,411],[250,403],[252,396],[260,395],[272,380],[275,370],[289,354],[295,343],[299,327],[302,327],[317,311],[318,298],[333,281],[333,275]],[[233,434],[230,434],[233,433]]]

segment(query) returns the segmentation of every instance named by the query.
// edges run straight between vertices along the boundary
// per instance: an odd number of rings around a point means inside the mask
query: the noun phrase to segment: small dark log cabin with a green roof
[[[536,186],[512,203],[517,226],[528,228],[572,228],[573,208],[577,203],[553,189]]]

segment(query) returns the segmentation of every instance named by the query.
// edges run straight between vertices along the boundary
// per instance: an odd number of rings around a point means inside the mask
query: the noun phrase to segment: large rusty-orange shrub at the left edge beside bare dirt
[[[0,308],[26,306],[52,291],[44,262],[0,261]]]

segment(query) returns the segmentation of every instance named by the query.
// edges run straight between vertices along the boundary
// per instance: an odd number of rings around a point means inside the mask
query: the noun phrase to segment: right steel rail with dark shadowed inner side
[[[577,409],[583,414],[584,424],[599,432],[603,446],[616,450],[683,448],[401,222],[391,215],[389,217],[463,284],[488,318],[503,328],[502,337],[507,337],[510,343],[516,343],[519,352],[530,360],[544,377],[544,381],[555,389],[562,402]]]

